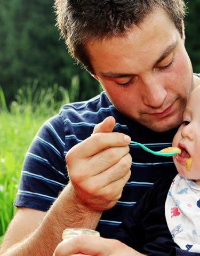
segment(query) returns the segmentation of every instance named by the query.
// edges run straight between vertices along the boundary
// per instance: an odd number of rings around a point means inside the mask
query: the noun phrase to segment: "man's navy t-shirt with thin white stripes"
[[[47,211],[68,183],[66,153],[89,137],[95,124],[107,116],[115,117],[115,132],[125,133],[153,150],[170,147],[177,131],[156,133],[135,123],[119,113],[105,92],[89,101],[64,105],[58,115],[43,124],[31,143],[23,163],[14,205]],[[97,227],[103,237],[111,237],[131,206],[156,180],[177,173],[172,157],[149,154],[137,145],[130,146],[130,154],[133,159],[130,180],[117,204],[103,212]]]

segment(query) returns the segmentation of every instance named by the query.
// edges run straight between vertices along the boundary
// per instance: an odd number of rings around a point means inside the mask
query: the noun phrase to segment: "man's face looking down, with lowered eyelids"
[[[157,132],[180,124],[193,70],[165,13],[151,13],[123,37],[94,39],[86,47],[95,77],[121,113]]]

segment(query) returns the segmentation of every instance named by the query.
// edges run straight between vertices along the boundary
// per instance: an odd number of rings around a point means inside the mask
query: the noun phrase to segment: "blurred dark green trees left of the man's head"
[[[38,86],[54,83],[71,91],[71,100],[85,100],[100,86],[85,70],[74,65],[54,26],[53,2],[49,0],[0,0],[0,85],[6,99],[13,99],[19,87],[37,79]],[[78,77],[78,79],[74,79]]]

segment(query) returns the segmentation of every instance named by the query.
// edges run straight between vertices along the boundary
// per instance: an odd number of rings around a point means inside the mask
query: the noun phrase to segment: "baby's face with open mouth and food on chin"
[[[200,185],[200,86],[191,92],[173,146],[181,149],[181,154],[173,156],[180,175]]]

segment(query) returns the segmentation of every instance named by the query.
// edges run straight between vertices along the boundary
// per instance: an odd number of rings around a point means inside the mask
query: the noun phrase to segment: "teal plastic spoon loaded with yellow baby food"
[[[154,151],[154,150],[147,148],[145,145],[143,145],[139,142],[131,141],[130,144],[138,145],[141,148],[143,148],[145,151],[147,151],[153,155],[156,155],[156,156],[174,156],[174,155],[181,153],[180,148],[177,148],[177,147],[169,147],[169,148],[164,148],[160,151]]]

